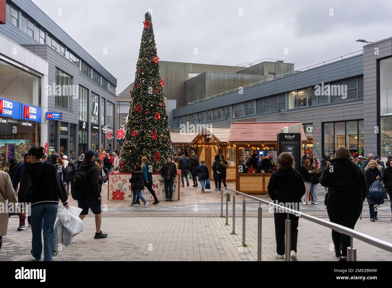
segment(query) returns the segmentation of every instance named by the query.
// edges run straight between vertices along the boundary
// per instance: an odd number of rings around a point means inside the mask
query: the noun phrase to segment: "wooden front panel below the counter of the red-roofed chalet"
[[[267,187],[270,178],[270,173],[240,173],[240,192],[268,194]]]

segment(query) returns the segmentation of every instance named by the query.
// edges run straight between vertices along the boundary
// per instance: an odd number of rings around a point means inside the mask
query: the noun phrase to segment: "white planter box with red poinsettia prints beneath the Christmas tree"
[[[107,175],[107,199],[108,200],[129,200],[132,201],[131,179],[132,173],[122,173],[114,171]],[[152,189],[155,191],[159,201],[165,201],[165,185],[163,178],[159,173],[152,173]],[[144,188],[142,195],[146,200],[153,200],[151,193]],[[173,184],[173,200],[180,200],[180,170],[177,170],[177,176]]]

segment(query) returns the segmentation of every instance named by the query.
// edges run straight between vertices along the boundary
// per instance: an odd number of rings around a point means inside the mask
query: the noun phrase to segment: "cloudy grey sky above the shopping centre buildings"
[[[389,0],[33,1],[117,78],[118,93],[133,82],[149,9],[158,57],[166,61],[236,65],[275,58],[301,69],[361,50],[359,38],[392,36]]]

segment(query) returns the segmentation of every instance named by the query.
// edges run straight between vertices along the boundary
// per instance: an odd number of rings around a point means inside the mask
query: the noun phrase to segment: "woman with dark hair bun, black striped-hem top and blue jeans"
[[[32,249],[31,254],[36,260],[41,259],[42,253],[42,230],[44,232],[44,261],[52,261],[54,221],[58,211],[59,199],[68,208],[67,191],[60,179],[56,167],[49,162],[41,160],[44,155],[43,147],[31,147],[29,160],[31,165],[23,172],[18,201],[20,203],[31,203],[31,232]],[[22,205],[22,215],[25,215],[25,207]]]

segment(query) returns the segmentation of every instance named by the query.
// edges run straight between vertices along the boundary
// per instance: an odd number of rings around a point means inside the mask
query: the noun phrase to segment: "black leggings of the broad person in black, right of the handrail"
[[[341,205],[327,207],[329,221],[354,229],[362,212],[362,205]],[[332,230],[332,241],[335,249],[342,246],[342,256],[347,257],[347,247],[350,246],[350,236]]]

